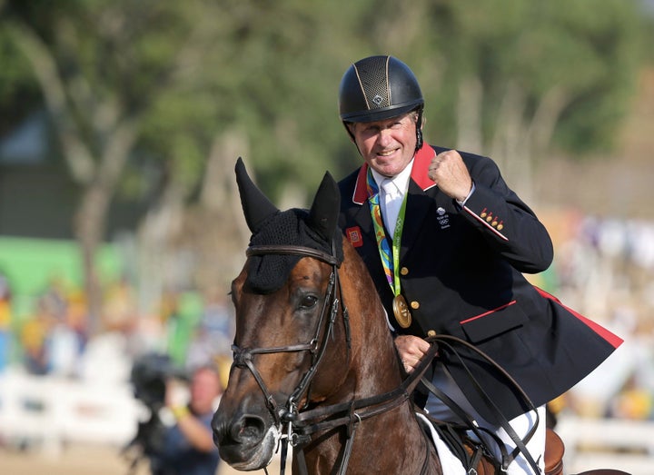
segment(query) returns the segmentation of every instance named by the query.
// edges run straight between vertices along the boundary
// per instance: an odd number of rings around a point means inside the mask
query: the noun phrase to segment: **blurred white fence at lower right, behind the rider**
[[[654,422],[561,417],[556,428],[566,451],[564,470],[617,469],[654,473]]]

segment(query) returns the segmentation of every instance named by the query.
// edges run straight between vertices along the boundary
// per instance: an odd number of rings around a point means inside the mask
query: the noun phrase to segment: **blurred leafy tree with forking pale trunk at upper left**
[[[157,112],[153,104],[179,93],[186,62],[205,40],[181,14],[176,4],[102,1],[7,2],[3,12],[3,28],[32,65],[70,174],[83,190],[74,233],[91,332],[99,330],[101,314],[94,255],[116,187]]]

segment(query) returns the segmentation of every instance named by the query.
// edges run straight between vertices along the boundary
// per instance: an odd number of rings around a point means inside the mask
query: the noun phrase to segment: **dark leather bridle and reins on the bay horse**
[[[300,408],[298,404],[302,400],[302,396],[309,392],[312,379],[315,376],[327,349],[328,339],[330,335],[332,335],[334,322],[339,313],[339,308],[341,309],[342,321],[345,329],[348,360],[350,359],[352,350],[350,318],[347,308],[344,302],[342,302],[342,289],[338,274],[340,262],[335,257],[336,253],[333,252],[333,248],[332,253],[330,254],[305,246],[258,245],[249,247],[245,252],[245,255],[248,257],[269,254],[292,254],[300,255],[302,257],[312,257],[332,266],[332,273],[325,291],[320,319],[316,325],[312,340],[307,343],[271,348],[240,348],[234,344],[232,347],[233,366],[237,368],[247,368],[252,372],[254,379],[257,381],[263,392],[266,407],[268,411],[270,411],[272,419],[277,424],[277,427],[282,428],[282,436],[280,438],[280,443],[282,444],[281,475],[284,474],[289,445],[293,448],[297,448],[295,453],[299,461],[299,470],[301,470],[302,474],[305,474],[307,473],[307,468],[303,458],[302,447],[311,442],[311,435],[313,433],[322,430],[330,430],[340,426],[347,427],[347,441],[342,450],[340,469],[337,472],[339,474],[344,474],[347,470],[347,464],[352,452],[354,432],[359,423],[385,411],[390,411],[409,400],[411,391],[413,391],[420,381],[422,374],[427,370],[429,363],[431,362],[431,357],[433,357],[437,351],[437,346],[431,346],[431,355],[428,354],[427,358],[424,358],[421,361],[421,365],[416,368],[415,371],[412,371],[407,379],[402,381],[401,386],[393,391],[369,398],[363,398],[361,400],[347,401],[333,404],[331,406],[318,407],[309,411],[302,411],[304,408]],[[329,318],[324,322],[327,314],[329,314]],[[322,332],[322,341],[319,344],[323,322],[325,329]],[[302,376],[302,380],[292,391],[291,396],[289,396],[282,405],[279,405],[272,396],[271,391],[268,390],[261,374],[254,366],[253,355],[296,351],[311,352],[312,364],[309,370]],[[306,401],[309,401],[308,397],[306,398]],[[427,453],[425,455],[421,473],[426,471],[429,455],[430,448],[427,446]]]

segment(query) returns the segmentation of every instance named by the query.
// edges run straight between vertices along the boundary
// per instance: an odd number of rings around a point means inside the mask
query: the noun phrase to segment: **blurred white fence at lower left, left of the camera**
[[[0,439],[10,443],[41,444],[53,454],[68,442],[124,446],[143,417],[127,382],[0,374]]]

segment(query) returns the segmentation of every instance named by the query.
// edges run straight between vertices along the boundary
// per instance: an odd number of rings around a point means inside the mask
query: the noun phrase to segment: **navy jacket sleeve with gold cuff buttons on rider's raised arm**
[[[490,158],[463,154],[475,191],[461,214],[492,249],[519,272],[536,273],[550,267],[554,252],[550,234],[536,214],[510,190]]]

